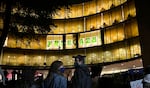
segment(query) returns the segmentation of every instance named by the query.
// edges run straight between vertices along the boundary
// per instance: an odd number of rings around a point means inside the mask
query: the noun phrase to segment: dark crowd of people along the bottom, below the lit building
[[[31,68],[24,69],[25,74],[22,78],[5,83],[5,76],[0,69],[2,82],[0,88],[131,88],[129,82],[143,78],[143,88],[150,88],[150,67],[146,68],[145,73],[133,74],[119,73],[100,76],[102,67],[91,65],[90,68],[85,64],[85,56],[77,55],[74,58],[74,71],[71,77],[65,75],[65,67],[62,61],[54,61],[48,71],[46,78],[34,80],[35,71]],[[31,75],[32,74],[32,75]],[[70,78],[69,78],[70,77]]]

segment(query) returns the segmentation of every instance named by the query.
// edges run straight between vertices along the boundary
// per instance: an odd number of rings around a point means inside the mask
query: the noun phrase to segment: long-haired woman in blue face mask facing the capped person
[[[42,88],[67,88],[67,79],[63,76],[63,72],[63,62],[54,61],[42,84]]]

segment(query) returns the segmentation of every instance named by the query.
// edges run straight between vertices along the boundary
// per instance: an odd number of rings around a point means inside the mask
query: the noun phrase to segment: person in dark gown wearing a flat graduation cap
[[[87,65],[84,64],[85,56],[73,56],[74,62],[74,75],[72,77],[72,88],[91,88],[92,79]]]

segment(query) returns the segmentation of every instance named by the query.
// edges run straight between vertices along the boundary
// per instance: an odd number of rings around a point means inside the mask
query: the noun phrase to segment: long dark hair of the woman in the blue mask
[[[63,62],[62,61],[54,61],[51,66],[50,66],[50,69],[49,69],[49,73],[48,73],[48,76],[47,77],[50,77],[52,76],[53,73],[57,73],[57,74],[60,74],[62,75],[62,73],[59,71],[59,67],[63,65]]]

